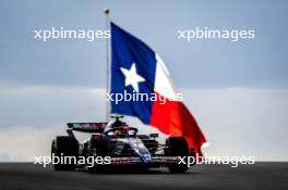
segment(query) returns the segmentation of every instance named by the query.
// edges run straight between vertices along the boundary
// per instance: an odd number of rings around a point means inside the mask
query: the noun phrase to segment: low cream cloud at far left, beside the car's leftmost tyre
[[[0,162],[33,161],[34,156],[49,155],[53,137],[63,132],[64,128],[59,126],[46,129],[27,126],[2,129]]]

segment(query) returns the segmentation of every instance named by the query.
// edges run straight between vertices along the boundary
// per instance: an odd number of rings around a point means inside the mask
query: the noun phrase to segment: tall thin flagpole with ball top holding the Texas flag
[[[105,13],[105,29],[109,30],[109,12],[110,10],[108,8],[105,8],[104,13]],[[106,48],[106,72],[105,72],[105,88],[106,88],[106,94],[105,94],[105,99],[107,97],[107,94],[109,93],[109,38],[105,38],[105,48]],[[106,122],[109,122],[109,101],[107,101],[107,99],[105,100],[106,105],[105,105],[105,116],[106,116]]]

